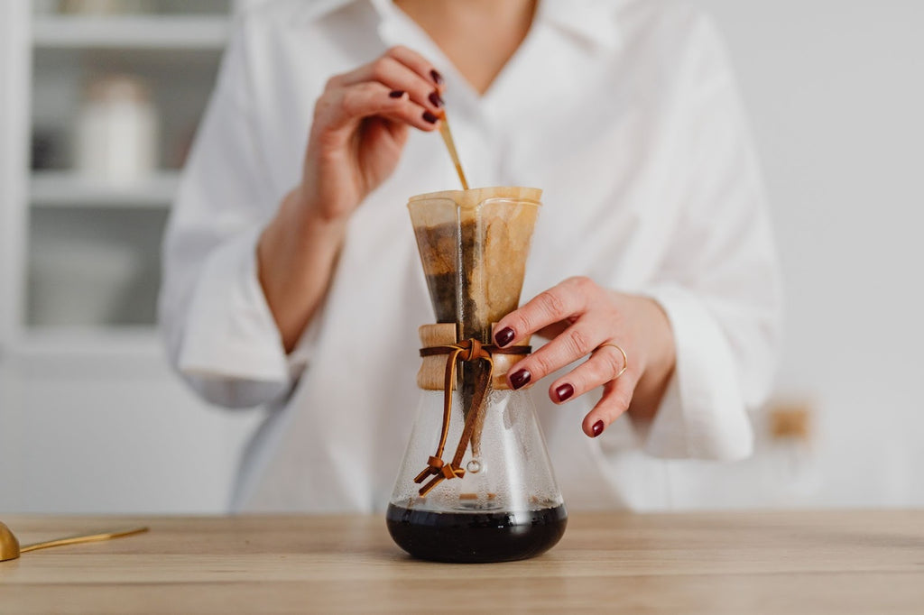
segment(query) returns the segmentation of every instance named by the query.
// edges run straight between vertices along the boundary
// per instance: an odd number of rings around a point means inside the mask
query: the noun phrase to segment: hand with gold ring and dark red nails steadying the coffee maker
[[[652,418],[674,371],[674,336],[661,306],[586,277],[569,278],[537,295],[501,319],[494,331],[499,346],[532,334],[551,340],[510,368],[507,380],[514,389],[590,355],[552,383],[549,397],[562,404],[602,386],[600,402],[584,417],[584,433],[591,438],[626,410]]]

